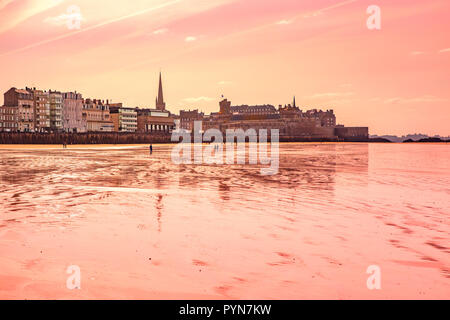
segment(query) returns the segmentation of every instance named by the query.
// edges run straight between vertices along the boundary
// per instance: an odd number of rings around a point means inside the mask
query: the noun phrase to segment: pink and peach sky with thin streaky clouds
[[[162,70],[176,113],[296,95],[371,134],[450,135],[449,16],[448,0],[0,0],[0,90],[154,107]]]

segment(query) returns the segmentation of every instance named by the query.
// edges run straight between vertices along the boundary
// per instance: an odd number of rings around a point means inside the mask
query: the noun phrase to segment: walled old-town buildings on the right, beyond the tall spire
[[[284,139],[326,139],[355,140],[368,139],[367,127],[344,127],[336,123],[333,110],[307,110],[297,107],[295,98],[292,104],[272,105],[240,105],[232,106],[227,99],[219,103],[219,112],[205,115],[198,110],[180,111],[179,127],[184,130],[194,130],[194,122],[201,121],[202,130],[218,129],[223,134],[228,129],[260,129],[279,130]]]

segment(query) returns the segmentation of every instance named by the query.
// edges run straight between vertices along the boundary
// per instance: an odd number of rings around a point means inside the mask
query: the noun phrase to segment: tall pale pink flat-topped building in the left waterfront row
[[[62,121],[65,132],[86,132],[87,123],[83,118],[83,96],[80,93],[64,92]]]

